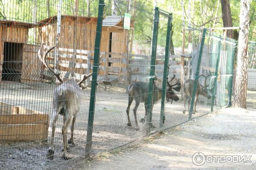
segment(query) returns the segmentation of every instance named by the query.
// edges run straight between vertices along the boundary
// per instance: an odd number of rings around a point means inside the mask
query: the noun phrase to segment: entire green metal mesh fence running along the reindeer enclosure
[[[169,12],[127,0],[1,3],[1,170],[63,169],[230,102],[233,40],[190,30],[186,43]],[[210,97],[185,113],[199,88]]]

